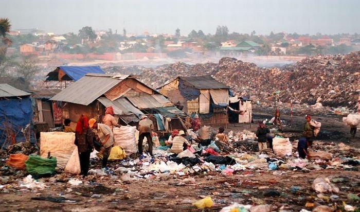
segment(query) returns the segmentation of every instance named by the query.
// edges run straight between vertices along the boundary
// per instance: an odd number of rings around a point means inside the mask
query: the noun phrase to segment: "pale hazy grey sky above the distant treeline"
[[[360,32],[360,0],[0,0],[12,29],[78,33],[83,26],[113,32]]]

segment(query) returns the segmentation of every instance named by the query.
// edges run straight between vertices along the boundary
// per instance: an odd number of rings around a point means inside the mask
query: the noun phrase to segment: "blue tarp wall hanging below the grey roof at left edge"
[[[22,129],[24,129],[27,125],[29,125],[29,130],[27,130],[27,132],[30,133],[27,133],[25,138]],[[32,105],[30,97],[22,97],[22,99],[9,98],[0,100],[1,146],[3,146],[3,143],[6,140],[6,126],[11,126],[12,132],[14,132],[16,135],[16,142],[25,142],[26,140],[30,140],[30,142],[33,143],[35,142],[32,130]],[[8,140],[11,140],[11,138],[8,138]],[[7,144],[10,144],[10,142]]]

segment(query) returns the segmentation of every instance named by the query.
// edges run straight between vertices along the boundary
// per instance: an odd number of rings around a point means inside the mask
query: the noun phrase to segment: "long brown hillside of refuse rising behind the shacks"
[[[134,69],[133,67],[131,67]],[[108,72],[126,68],[105,68]],[[140,80],[157,88],[177,76],[212,75],[243,97],[271,105],[276,93],[279,101],[321,103],[327,107],[355,109],[360,92],[360,51],[347,55],[308,57],[294,65],[260,68],[255,63],[222,58],[219,63],[189,65],[182,62],[136,67]]]

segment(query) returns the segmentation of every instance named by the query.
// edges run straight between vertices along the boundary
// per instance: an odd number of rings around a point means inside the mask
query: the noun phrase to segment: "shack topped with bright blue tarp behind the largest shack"
[[[46,76],[42,89],[65,89],[87,73],[105,74],[100,66],[59,66]]]

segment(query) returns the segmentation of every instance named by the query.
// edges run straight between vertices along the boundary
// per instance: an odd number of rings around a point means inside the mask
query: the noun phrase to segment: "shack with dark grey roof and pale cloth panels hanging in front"
[[[210,75],[177,77],[159,92],[181,105],[187,114],[199,114],[202,125],[228,122],[229,87]]]

